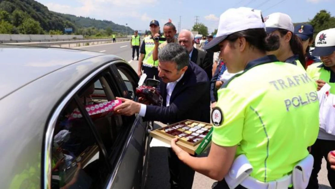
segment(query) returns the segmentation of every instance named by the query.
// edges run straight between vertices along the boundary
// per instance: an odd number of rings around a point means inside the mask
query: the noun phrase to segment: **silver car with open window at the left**
[[[144,188],[150,125],[138,115],[94,117],[85,109],[137,100],[139,78],[127,62],[0,45],[0,65],[1,188]]]

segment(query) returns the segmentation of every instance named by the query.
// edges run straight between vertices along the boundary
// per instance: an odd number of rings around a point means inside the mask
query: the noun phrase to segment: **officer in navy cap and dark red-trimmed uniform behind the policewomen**
[[[294,34],[303,42],[303,52],[306,60],[305,68],[313,63],[321,62],[319,58],[312,56],[310,53],[310,45],[313,43],[313,26],[309,24],[298,24],[294,27]]]

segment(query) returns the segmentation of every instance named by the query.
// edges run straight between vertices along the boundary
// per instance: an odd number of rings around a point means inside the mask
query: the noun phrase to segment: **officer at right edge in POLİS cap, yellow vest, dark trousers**
[[[321,31],[315,39],[315,49],[312,55],[320,56],[322,63],[314,63],[307,68],[307,74],[318,84],[318,90],[328,83],[330,93],[335,94],[335,28]],[[331,115],[331,114],[330,114]],[[331,115],[335,117],[335,115]],[[323,122],[322,122],[323,123]],[[324,122],[323,124],[326,124]],[[308,189],[317,189],[318,173],[321,169],[322,158],[327,159],[329,151],[335,149],[335,136],[320,128],[318,139],[312,146],[311,154],[314,157],[314,169],[308,184]],[[335,188],[335,171],[327,161],[328,180],[330,186]]]

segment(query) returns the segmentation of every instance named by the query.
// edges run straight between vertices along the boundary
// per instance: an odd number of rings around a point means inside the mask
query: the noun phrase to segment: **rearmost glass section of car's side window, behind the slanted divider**
[[[82,99],[82,98],[81,98]],[[109,170],[88,122],[72,99],[57,120],[52,146],[52,189],[102,188]]]

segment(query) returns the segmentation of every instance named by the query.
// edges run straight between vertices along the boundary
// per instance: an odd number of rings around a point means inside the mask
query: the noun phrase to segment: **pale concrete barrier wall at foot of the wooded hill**
[[[83,39],[82,35],[25,35],[25,34],[0,34],[0,43],[6,42],[43,42]]]

